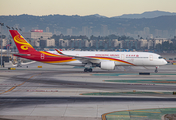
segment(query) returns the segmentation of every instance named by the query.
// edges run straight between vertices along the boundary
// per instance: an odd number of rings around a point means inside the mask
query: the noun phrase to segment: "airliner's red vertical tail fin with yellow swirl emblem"
[[[17,46],[19,53],[29,53],[36,51],[21,35],[17,30],[9,30],[12,38]]]

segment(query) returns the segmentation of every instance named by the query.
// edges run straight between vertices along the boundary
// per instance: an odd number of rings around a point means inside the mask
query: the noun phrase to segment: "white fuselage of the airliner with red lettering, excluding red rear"
[[[56,51],[48,51],[50,53],[58,54]],[[80,56],[80,57],[94,57],[103,61],[114,61],[116,66],[160,66],[167,64],[166,60],[160,55],[149,52],[104,52],[104,51],[62,51],[66,55]],[[84,66],[81,61],[71,61],[59,64],[67,64],[74,66]]]

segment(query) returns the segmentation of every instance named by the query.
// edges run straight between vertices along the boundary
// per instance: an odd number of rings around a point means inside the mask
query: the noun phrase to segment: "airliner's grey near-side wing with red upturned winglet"
[[[81,61],[82,63],[100,63],[99,59],[96,58],[90,58],[90,57],[83,57],[83,56],[76,56],[76,55],[66,55],[63,54],[61,51],[55,49],[60,55],[63,56],[68,56],[68,57],[73,57],[74,59],[77,59],[79,61]]]

